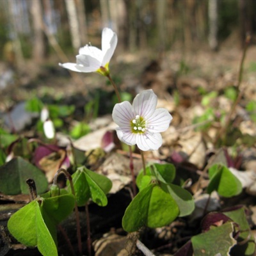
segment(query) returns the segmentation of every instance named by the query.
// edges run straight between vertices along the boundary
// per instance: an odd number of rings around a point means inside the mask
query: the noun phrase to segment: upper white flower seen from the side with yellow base
[[[76,72],[98,72],[103,76],[109,74],[109,61],[116,49],[117,36],[110,28],[102,30],[102,50],[92,45],[85,45],[79,49],[76,56],[76,63],[59,64],[63,68],[68,68]]]

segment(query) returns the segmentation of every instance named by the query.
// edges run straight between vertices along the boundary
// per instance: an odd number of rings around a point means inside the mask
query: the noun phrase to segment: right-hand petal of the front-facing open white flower
[[[147,119],[147,131],[164,132],[168,129],[172,115],[165,108],[157,108],[152,116]]]

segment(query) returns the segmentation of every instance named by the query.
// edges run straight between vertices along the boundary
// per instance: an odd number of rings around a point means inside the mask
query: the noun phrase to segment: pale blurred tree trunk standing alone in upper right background
[[[218,0],[208,0],[209,45],[212,51],[218,49]]]

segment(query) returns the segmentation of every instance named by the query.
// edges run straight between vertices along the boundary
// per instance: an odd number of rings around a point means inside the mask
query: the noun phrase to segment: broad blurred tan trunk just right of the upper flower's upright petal
[[[118,47],[122,50],[127,49],[128,19],[125,1],[109,1],[109,10],[111,20],[113,21],[113,30],[118,33]]]

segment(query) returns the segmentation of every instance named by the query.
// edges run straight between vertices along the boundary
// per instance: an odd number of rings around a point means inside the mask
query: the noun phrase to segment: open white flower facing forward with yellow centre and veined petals
[[[162,145],[159,132],[168,129],[172,115],[164,108],[156,109],[157,96],[153,90],[138,94],[131,105],[124,101],[115,105],[113,120],[119,126],[116,133],[127,145],[137,144],[143,151],[157,150]]]

